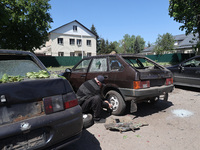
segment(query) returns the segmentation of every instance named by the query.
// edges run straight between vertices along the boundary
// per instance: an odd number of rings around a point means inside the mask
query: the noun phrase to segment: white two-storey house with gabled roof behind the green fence
[[[35,53],[50,56],[94,56],[96,35],[74,20],[49,32],[49,41]]]

